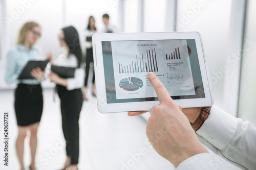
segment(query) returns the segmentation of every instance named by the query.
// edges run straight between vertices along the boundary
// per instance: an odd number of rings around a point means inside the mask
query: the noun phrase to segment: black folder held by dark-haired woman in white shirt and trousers
[[[75,67],[63,67],[52,65],[51,70],[61,78],[73,78],[75,76]]]

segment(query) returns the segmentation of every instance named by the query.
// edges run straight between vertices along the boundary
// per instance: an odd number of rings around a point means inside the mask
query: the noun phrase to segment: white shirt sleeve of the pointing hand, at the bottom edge
[[[197,170],[239,170],[240,168],[232,165],[231,163],[225,161],[218,155],[214,153],[202,153],[194,155],[179,164],[177,170],[187,170],[187,169],[197,169]]]

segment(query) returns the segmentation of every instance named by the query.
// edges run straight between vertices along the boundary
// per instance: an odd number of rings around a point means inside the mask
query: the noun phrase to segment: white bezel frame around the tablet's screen
[[[214,99],[211,92],[210,78],[203,52],[203,45],[200,33],[198,32],[167,32],[167,33],[97,33],[92,37],[94,70],[96,78],[97,105],[101,113],[126,112],[150,110],[159,104],[159,101],[129,102],[129,103],[106,103],[105,77],[103,68],[102,41],[125,41],[125,40],[177,40],[195,39],[198,60],[205,98],[179,99],[176,104],[183,108],[212,106]],[[131,107],[132,106],[132,107]]]

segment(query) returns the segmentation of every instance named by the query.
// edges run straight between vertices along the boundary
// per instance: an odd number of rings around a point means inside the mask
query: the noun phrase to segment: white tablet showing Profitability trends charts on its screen
[[[158,105],[146,76],[150,71],[177,105],[214,104],[198,32],[98,33],[92,42],[101,113],[150,110]]]

